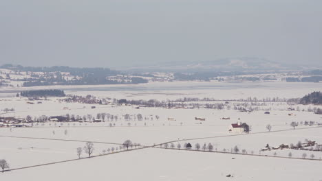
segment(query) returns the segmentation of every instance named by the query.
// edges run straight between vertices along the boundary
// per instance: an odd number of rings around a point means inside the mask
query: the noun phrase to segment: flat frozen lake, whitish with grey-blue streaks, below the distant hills
[[[92,94],[116,99],[176,99],[180,97],[215,97],[241,99],[247,97],[303,97],[313,91],[321,91],[321,83],[307,82],[154,82],[149,84],[120,84],[92,86],[35,86],[2,88],[1,97],[14,96],[21,90],[58,88],[68,94]]]

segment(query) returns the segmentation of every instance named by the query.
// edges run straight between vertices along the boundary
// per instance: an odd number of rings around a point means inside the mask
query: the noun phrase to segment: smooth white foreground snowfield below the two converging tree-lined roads
[[[232,159],[235,158],[235,159]],[[227,178],[231,174],[233,178]],[[321,180],[321,162],[142,149],[11,171],[3,180]]]

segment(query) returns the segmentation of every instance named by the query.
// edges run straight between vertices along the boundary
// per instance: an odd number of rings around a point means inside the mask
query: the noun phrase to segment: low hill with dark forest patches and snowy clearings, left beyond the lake
[[[23,67],[5,64],[0,69],[15,71],[20,78],[14,81],[23,82],[23,86],[51,85],[99,85],[99,84],[141,84],[147,79],[141,76],[121,73],[107,68],[76,67]],[[23,73],[21,73],[23,72]],[[10,75],[8,74],[8,78]],[[25,76],[25,77],[23,77]]]

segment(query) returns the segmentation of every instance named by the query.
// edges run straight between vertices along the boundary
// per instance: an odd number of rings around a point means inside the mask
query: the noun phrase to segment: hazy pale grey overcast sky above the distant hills
[[[1,0],[0,64],[322,62],[321,0]]]

